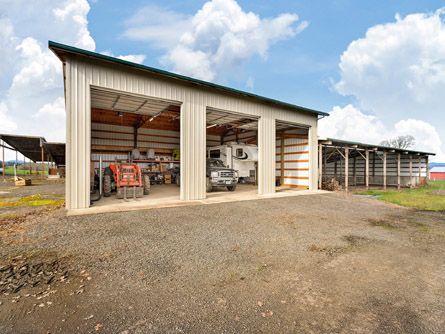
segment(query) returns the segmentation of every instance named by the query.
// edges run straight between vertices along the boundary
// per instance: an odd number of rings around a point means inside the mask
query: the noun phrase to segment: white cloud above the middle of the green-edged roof
[[[218,80],[276,42],[292,38],[308,23],[295,14],[260,18],[235,0],[211,0],[191,17],[158,7],[139,10],[127,21],[124,36],[166,50],[161,63],[175,72]]]

